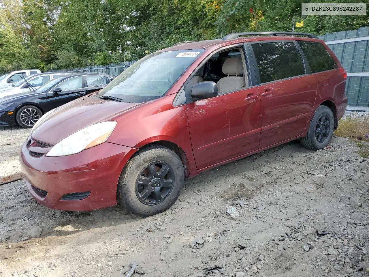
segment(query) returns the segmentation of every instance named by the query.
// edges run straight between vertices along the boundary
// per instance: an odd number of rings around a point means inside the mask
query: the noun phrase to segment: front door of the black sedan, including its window
[[[62,91],[58,93],[53,92],[55,88],[60,88]],[[47,102],[50,110],[86,95],[85,88],[83,87],[82,76],[66,79],[56,85],[55,88],[47,93]]]

